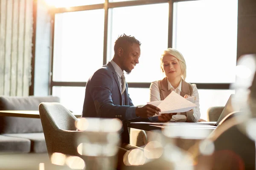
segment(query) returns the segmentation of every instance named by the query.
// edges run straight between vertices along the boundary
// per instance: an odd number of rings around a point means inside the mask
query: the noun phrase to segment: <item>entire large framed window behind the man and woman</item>
[[[134,105],[145,105],[150,83],[163,78],[160,56],[168,47],[186,59],[186,81],[198,86],[202,119],[209,107],[226,104],[234,93],[238,0],[104,2],[77,0],[70,6],[79,8],[56,9],[51,93],[67,108],[82,111],[87,79],[113,58],[123,33],[142,43],[140,63],[126,75]]]

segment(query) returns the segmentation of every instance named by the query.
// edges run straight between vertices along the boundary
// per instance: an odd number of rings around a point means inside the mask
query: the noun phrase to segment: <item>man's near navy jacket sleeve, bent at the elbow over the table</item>
[[[113,90],[113,74],[105,69],[96,71],[90,79],[90,94],[96,108],[96,113],[101,118],[119,118],[130,120],[137,118],[136,107],[114,105],[111,91]]]

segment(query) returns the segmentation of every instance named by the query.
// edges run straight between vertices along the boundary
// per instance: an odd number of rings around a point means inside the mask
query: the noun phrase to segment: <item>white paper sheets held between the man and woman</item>
[[[162,101],[147,102],[147,103],[160,108],[161,109],[160,113],[180,113],[180,112],[190,111],[191,109],[195,108],[197,105],[193,103],[194,100],[195,100],[194,96],[185,99],[184,97],[175,93],[175,91],[172,91],[172,93],[170,93]],[[160,114],[159,115],[155,114],[154,116],[160,116]]]

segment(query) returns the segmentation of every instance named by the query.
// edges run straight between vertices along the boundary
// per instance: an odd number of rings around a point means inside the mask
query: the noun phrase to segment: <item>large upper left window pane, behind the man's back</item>
[[[103,38],[103,9],[55,14],[53,81],[86,82],[102,66]]]

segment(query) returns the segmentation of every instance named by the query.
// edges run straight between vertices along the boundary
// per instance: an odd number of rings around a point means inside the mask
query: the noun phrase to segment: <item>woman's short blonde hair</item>
[[[185,80],[186,79],[186,61],[183,55],[179,51],[175,50],[174,48],[168,48],[167,50],[163,51],[163,54],[160,58],[162,71],[163,71],[163,56],[165,56],[166,54],[172,55],[173,57],[177,58],[177,60],[180,63],[181,77]]]

